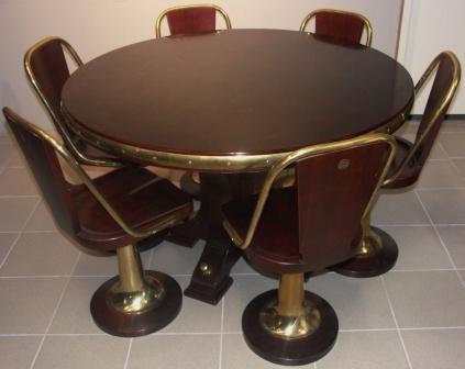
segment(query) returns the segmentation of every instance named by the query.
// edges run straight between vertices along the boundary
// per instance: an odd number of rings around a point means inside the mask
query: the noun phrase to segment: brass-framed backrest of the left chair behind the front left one
[[[67,126],[60,109],[62,89],[69,78],[64,51],[78,67],[82,65],[75,49],[65,40],[54,36],[37,42],[25,53],[24,69],[65,145],[75,148],[73,144],[75,134]]]

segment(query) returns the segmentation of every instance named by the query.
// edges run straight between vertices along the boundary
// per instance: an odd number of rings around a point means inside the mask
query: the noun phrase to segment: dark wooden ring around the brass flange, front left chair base
[[[178,315],[182,304],[179,284],[171,277],[158,271],[147,270],[145,276],[148,282],[152,279],[163,284],[163,300],[140,313],[118,311],[109,304],[108,299],[112,287],[119,282],[119,277],[113,277],[100,286],[90,301],[90,312],[100,329],[121,337],[144,336],[162,329]]]

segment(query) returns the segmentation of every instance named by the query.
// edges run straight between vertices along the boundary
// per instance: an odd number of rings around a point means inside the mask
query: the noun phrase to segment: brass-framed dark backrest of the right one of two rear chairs
[[[309,13],[300,25],[306,31],[308,23],[314,19],[314,34],[332,38],[359,43],[363,31],[366,32],[365,45],[372,45],[373,29],[368,19],[362,14],[334,9],[319,9]]]

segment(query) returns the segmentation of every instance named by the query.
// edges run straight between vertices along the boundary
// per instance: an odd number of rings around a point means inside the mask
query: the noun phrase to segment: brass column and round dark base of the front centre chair
[[[248,347],[265,360],[305,365],[326,355],[337,336],[331,305],[303,290],[303,275],[281,276],[279,290],[256,297],[245,308],[242,329]]]

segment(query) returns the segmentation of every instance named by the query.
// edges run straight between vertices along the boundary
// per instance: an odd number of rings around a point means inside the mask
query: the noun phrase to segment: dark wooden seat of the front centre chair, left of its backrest
[[[225,221],[242,239],[248,230],[257,195],[234,200],[223,206]],[[296,272],[301,267],[295,187],[273,189],[264,206],[255,235],[245,255],[258,269]],[[280,269],[283,268],[283,270]],[[281,271],[279,271],[281,270]]]

